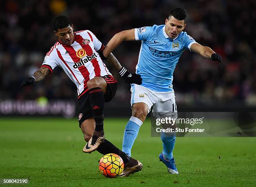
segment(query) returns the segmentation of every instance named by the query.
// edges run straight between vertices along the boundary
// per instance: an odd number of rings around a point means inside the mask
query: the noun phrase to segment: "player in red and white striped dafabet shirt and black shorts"
[[[77,86],[79,127],[84,133],[84,152],[97,150],[102,155],[115,153],[124,163],[125,170],[120,176],[128,176],[142,169],[138,160],[131,158],[105,139],[103,130],[104,105],[113,99],[117,90],[117,80],[108,71],[102,60],[106,60],[120,71],[125,82],[141,84],[141,77],[128,72],[110,54],[104,57],[104,45],[90,30],[74,32],[72,22],[66,16],[54,20],[54,34],[58,37],[51,50],[46,54],[40,69],[32,77],[27,77],[21,87],[41,81],[56,66],[61,67]]]

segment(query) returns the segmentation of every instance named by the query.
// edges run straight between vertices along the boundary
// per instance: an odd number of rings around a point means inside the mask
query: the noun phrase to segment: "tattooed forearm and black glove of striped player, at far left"
[[[34,82],[43,80],[46,75],[48,75],[50,70],[46,67],[40,67],[39,70],[34,72],[32,77],[26,77],[19,86],[19,89],[25,86],[32,85]]]

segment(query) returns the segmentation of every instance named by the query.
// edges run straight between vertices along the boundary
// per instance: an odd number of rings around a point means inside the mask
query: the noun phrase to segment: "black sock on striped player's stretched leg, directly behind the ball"
[[[126,155],[125,152],[119,150],[117,147],[115,147],[115,145],[113,145],[106,139],[100,144],[100,146],[97,148],[97,151],[100,152],[102,155],[106,155],[108,153],[115,153],[123,159],[123,162],[125,164],[131,160],[131,157],[129,155]]]

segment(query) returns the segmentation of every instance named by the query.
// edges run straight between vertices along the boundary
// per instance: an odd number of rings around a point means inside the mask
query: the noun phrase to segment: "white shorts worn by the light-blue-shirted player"
[[[152,112],[176,113],[177,106],[175,102],[174,91],[171,92],[156,92],[144,86],[132,84],[131,85],[131,107],[134,103],[144,102],[148,105],[148,113],[153,106]],[[174,115],[172,115],[174,116]]]

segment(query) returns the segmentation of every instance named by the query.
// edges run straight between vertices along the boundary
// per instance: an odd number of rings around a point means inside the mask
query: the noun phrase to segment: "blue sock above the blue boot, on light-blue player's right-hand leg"
[[[163,142],[163,155],[165,160],[171,160],[173,155],[172,151],[174,149],[175,144],[175,133],[173,134],[167,134],[164,132],[161,132],[161,140]]]

